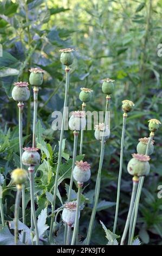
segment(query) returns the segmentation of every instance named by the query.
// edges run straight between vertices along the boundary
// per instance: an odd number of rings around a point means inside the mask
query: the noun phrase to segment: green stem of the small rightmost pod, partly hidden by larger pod
[[[146,148],[146,154],[145,154],[146,156],[148,155],[148,150],[150,148],[150,145],[151,145],[151,142],[152,142],[152,139],[153,139],[153,135],[154,135],[154,133],[150,134],[150,137],[149,137],[149,140],[148,140],[148,143],[147,143],[147,148]],[[142,186],[144,184],[144,179],[145,179],[145,176],[141,176],[140,179],[139,179],[138,191],[137,191],[137,196],[135,198],[135,205],[134,205],[135,210],[134,210],[134,220],[133,220],[133,225],[132,225],[132,230],[131,230],[131,239],[130,239],[130,241],[128,241],[130,245],[132,245],[132,242],[133,242],[135,225],[136,225],[136,222],[137,222],[139,200],[140,200],[140,196],[141,196]]]

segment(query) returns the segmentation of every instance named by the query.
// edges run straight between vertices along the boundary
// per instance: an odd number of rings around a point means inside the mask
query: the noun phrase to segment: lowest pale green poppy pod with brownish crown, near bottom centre
[[[64,204],[64,209],[62,211],[62,220],[66,222],[70,227],[72,227],[75,222],[76,206],[77,203],[75,201]],[[78,218],[80,218],[80,212]]]

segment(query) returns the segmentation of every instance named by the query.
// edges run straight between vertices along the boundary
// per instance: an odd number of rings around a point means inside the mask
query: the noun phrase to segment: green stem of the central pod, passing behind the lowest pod
[[[76,151],[77,151],[77,138],[79,135],[78,131],[74,131],[74,147],[73,147],[73,163],[72,163],[72,173],[70,177],[70,185],[69,185],[69,193],[68,193],[68,202],[71,200],[71,194],[72,194],[72,187],[73,187],[73,169],[75,167],[75,161],[76,161]],[[64,228],[64,240],[66,241],[67,237],[67,223],[65,223]]]

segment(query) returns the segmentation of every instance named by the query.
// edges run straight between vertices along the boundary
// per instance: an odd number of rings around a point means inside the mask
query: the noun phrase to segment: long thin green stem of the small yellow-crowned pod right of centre
[[[120,186],[121,186],[121,175],[122,175],[122,163],[123,163],[123,151],[124,151],[124,138],[125,138],[125,131],[126,131],[126,120],[127,114],[123,114],[123,123],[122,123],[122,136],[121,136],[121,149],[120,149],[120,167],[119,167],[119,177],[118,177],[118,190],[117,190],[117,197],[116,197],[116,210],[115,210],[115,220],[114,220],[114,228],[113,233],[115,234],[116,231],[116,224],[118,221],[118,211],[119,211],[119,200],[120,200]]]

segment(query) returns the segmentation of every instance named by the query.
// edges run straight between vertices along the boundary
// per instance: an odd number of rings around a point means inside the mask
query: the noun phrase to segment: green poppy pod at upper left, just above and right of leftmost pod
[[[29,83],[31,86],[41,86],[43,83],[43,73],[44,70],[40,68],[31,68],[29,69]]]

